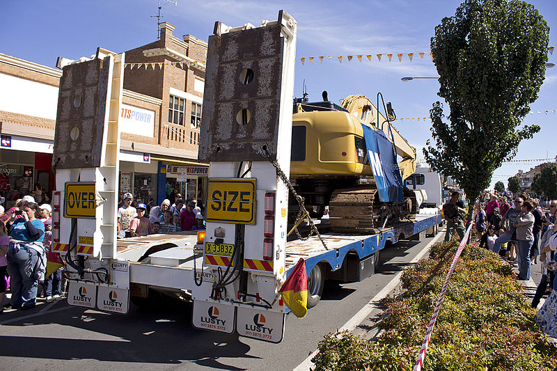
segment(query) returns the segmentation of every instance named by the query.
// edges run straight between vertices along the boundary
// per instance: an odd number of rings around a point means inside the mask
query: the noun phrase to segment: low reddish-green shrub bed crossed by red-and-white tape
[[[402,292],[387,297],[376,341],[329,333],[313,362],[318,370],[411,370],[430,322],[455,242],[402,274]],[[557,347],[534,321],[512,270],[498,255],[467,245],[437,317],[424,370],[551,370]]]

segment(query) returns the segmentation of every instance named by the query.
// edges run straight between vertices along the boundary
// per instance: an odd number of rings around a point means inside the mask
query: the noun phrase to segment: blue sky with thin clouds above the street
[[[551,27],[549,45],[557,44],[557,6],[555,0],[529,1]],[[436,76],[428,55],[434,27],[442,17],[454,15],[460,1],[391,0],[391,1],[223,1],[178,0],[178,6],[162,0],[163,22],[176,26],[174,35],[191,34],[207,40],[219,20],[228,26],[250,22],[258,26],[262,19],[276,19],[278,10],[290,13],[298,22],[297,57],[326,56],[321,64],[302,65],[295,69],[295,95],[301,96],[304,80],[310,100],[321,100],[322,90],[338,102],[351,94],[363,94],[375,102],[378,92],[393,103],[398,118],[427,117],[433,102],[439,100],[436,80],[403,82],[406,76]],[[77,59],[91,56],[97,47],[123,52],[145,45],[157,38],[157,0],[27,0],[0,1],[0,52],[54,67],[56,58]],[[553,29],[553,26],[556,29]],[[423,60],[418,52],[425,52]],[[393,53],[377,61],[376,54]],[[410,62],[396,54],[414,53]],[[361,63],[336,56],[372,54]],[[327,56],[334,55],[331,60]],[[557,63],[557,52],[549,55]],[[557,109],[557,67],[547,70],[539,98],[532,111]],[[543,159],[557,155],[557,113],[530,114],[525,124],[538,124],[540,133],[519,146],[515,159]],[[418,150],[430,138],[430,122],[402,120],[397,129]],[[492,185],[507,181],[518,169],[528,171],[537,162],[503,164],[495,171]]]

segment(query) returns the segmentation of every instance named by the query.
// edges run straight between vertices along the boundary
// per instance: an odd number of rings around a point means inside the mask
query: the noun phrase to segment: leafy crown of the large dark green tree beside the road
[[[549,27],[531,4],[518,0],[466,0],[431,39],[439,73],[432,138],[423,149],[430,167],[450,175],[475,200],[496,168],[516,155],[523,139],[540,131],[521,126],[538,97],[547,63]],[[520,127],[521,126],[521,127]]]

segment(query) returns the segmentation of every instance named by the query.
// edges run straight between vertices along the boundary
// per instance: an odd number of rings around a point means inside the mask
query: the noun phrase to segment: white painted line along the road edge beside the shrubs
[[[436,244],[437,240],[441,239],[441,237],[445,237],[444,230],[441,230],[439,233],[437,233],[437,236],[433,237],[433,239],[430,241],[430,243],[427,244],[427,246],[425,246],[422,249],[422,251],[420,251],[418,253],[418,255],[416,255],[414,257],[414,259],[412,259],[410,261],[410,264],[415,264],[421,258],[423,258],[423,255],[425,255],[428,251],[430,251],[430,247],[433,244]],[[394,276],[394,278],[391,280],[391,282],[389,282],[385,287],[383,287],[383,289],[381,291],[379,291],[377,293],[377,295],[375,295],[375,297],[373,297],[370,301],[368,301],[368,303],[366,303],[366,305],[363,306],[363,308],[361,308],[358,311],[358,313],[356,313],[354,315],[354,317],[350,318],[348,320],[348,322],[346,322],[342,327],[340,327],[340,329],[338,329],[338,331],[344,331],[344,330],[352,331],[352,330],[356,329],[356,326],[361,324],[361,322],[364,319],[366,319],[366,317],[368,317],[368,315],[372,312],[372,310],[377,308],[377,303],[379,301],[381,301],[382,299],[384,299],[387,296],[387,294],[389,294],[389,292],[393,291],[394,288],[398,285],[398,283],[400,283],[400,277],[401,276],[402,276],[402,271],[398,272],[398,274],[396,274],[396,276]],[[297,367],[294,369],[294,371],[312,370],[313,362],[311,361],[311,358],[315,357],[317,355],[317,352],[319,352],[319,351],[317,349],[315,349],[315,352],[310,354],[308,356],[308,358],[306,358],[302,363],[297,365]]]

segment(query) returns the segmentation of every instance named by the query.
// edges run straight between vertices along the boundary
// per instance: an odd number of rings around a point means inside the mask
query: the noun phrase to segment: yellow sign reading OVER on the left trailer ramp
[[[66,182],[64,217],[95,219],[95,182]]]

